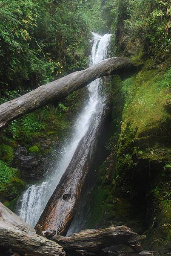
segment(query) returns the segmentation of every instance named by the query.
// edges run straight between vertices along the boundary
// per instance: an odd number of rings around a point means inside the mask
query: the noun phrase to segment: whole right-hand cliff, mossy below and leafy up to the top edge
[[[157,255],[171,252],[169,6],[169,1],[103,1],[114,33],[111,54],[129,56],[137,72],[123,81],[111,79],[110,155],[100,167],[88,218],[91,228],[126,224],[145,234],[144,248]]]

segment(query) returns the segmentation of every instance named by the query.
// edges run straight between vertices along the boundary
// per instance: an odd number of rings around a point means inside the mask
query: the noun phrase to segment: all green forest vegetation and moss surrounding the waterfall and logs
[[[0,104],[88,67],[91,31],[110,32],[109,56],[129,57],[137,67],[108,79],[108,157],[86,228],[125,224],[146,235],[145,249],[171,253],[171,0],[0,0],[0,17]],[[20,168],[17,149],[46,160],[86,96],[78,90],[0,130],[0,201],[7,207],[15,210],[41,176]]]

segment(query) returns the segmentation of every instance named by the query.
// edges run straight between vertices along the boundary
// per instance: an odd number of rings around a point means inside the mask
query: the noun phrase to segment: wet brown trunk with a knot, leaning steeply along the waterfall
[[[100,112],[92,116],[94,118],[87,133],[80,140],[71,162],[37,223],[43,231],[56,230],[57,235],[66,235],[77,210],[82,188],[94,159],[96,141],[100,137],[109,109],[109,105],[104,104]]]

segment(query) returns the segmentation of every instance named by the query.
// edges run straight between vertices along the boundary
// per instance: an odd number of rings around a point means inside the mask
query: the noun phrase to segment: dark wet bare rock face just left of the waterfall
[[[51,155],[51,148],[58,144],[51,139],[39,138],[39,152],[30,152],[26,146],[18,145],[14,153],[13,166],[20,171],[21,179],[26,182],[38,181],[46,172],[46,163]]]

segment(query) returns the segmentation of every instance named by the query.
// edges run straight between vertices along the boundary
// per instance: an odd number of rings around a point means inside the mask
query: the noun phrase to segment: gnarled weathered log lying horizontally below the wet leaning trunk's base
[[[85,250],[89,253],[97,253],[111,245],[125,244],[134,251],[142,251],[142,240],[139,236],[126,226],[109,227],[102,230],[82,230],[68,237],[53,236],[51,240],[60,244],[66,252],[74,250]]]

